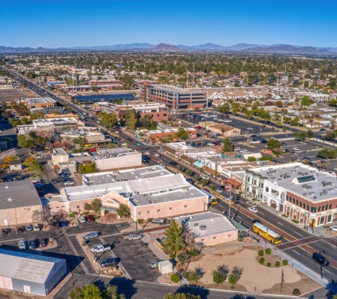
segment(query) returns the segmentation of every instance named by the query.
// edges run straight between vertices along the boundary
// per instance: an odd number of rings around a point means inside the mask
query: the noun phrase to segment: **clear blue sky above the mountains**
[[[4,0],[0,1],[0,45],[337,47],[336,11],[336,0]]]

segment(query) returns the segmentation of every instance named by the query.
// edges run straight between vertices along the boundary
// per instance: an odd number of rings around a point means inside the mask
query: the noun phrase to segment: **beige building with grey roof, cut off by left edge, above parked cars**
[[[1,226],[31,223],[33,211],[42,209],[38,192],[29,180],[0,183],[0,194]]]

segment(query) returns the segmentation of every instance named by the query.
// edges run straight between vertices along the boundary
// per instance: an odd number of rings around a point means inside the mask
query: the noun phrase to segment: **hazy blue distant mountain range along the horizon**
[[[256,45],[239,43],[224,47],[206,43],[204,45],[168,45],[160,43],[133,43],[125,45],[101,45],[87,47],[5,47],[0,46],[0,53],[43,53],[43,52],[87,52],[87,51],[157,51],[157,52],[245,52],[245,53],[274,53],[299,55],[337,55],[337,47],[311,47],[299,45]]]

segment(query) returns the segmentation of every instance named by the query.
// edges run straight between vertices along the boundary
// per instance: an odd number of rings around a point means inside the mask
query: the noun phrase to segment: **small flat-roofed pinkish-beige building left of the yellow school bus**
[[[182,225],[194,235],[194,242],[214,246],[238,239],[238,229],[226,216],[219,213],[194,214],[184,218]]]

